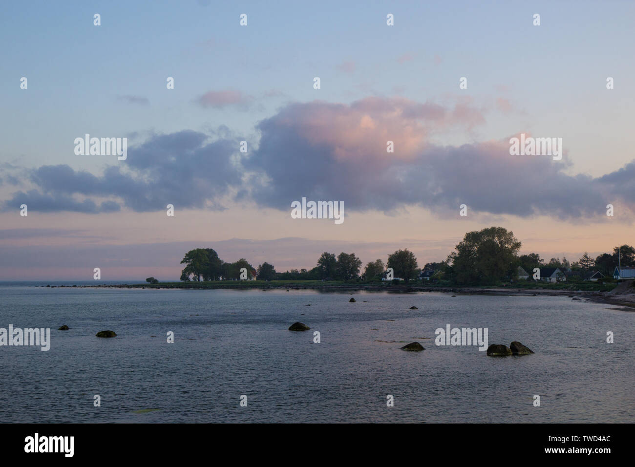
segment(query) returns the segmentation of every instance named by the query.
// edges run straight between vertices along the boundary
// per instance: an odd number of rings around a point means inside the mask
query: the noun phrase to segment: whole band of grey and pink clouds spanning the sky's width
[[[422,206],[455,215],[466,204],[469,212],[576,220],[604,215],[609,203],[632,206],[635,161],[594,178],[569,175],[566,150],[561,161],[511,156],[509,137],[441,144],[447,131],[485,123],[486,111],[470,98],[450,105],[403,97],[295,102],[260,121],[248,155],[226,127],[152,134],[101,175],[68,165],[22,169],[34,189],[14,193],[3,209],[144,212],[170,203],[220,210],[229,201],[288,210],[306,196],[361,212]]]

